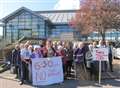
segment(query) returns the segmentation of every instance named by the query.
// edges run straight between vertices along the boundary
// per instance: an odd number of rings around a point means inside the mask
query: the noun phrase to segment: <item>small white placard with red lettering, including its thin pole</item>
[[[93,49],[93,60],[99,61],[99,85],[101,84],[101,61],[108,61],[108,48]]]

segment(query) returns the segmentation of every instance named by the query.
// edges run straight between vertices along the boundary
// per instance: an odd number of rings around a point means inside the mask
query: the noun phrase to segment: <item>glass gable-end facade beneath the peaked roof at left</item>
[[[5,38],[13,42],[23,36],[44,38],[45,20],[29,12],[22,12],[6,23],[5,31]]]

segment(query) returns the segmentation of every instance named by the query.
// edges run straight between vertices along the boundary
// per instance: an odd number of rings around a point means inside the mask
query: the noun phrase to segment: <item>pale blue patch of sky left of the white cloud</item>
[[[0,19],[24,6],[31,10],[52,10],[58,0],[0,0]]]

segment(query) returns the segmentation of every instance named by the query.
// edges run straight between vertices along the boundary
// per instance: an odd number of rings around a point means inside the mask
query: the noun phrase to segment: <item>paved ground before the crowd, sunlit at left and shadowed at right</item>
[[[65,80],[61,84],[34,87],[30,84],[19,85],[19,80],[15,79],[15,75],[6,71],[0,74],[0,88],[120,88],[120,60],[114,61],[114,72],[109,74],[111,78],[102,80],[101,86],[98,86],[95,81]]]

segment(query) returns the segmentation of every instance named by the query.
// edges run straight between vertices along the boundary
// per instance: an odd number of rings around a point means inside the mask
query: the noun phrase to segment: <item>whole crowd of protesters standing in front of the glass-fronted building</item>
[[[32,82],[32,61],[34,58],[46,58],[53,56],[61,56],[63,63],[64,78],[70,77],[72,69],[75,70],[75,76],[78,79],[87,79],[88,69],[91,74],[96,73],[94,61],[92,58],[86,58],[89,52],[92,55],[94,48],[108,47],[109,49],[109,67],[112,69],[112,48],[109,41],[102,40],[85,44],[84,42],[68,42],[68,41],[43,41],[42,44],[32,45],[30,41],[15,45],[12,51],[11,68],[15,67],[17,78],[23,84],[25,81]],[[89,64],[89,65],[88,65]],[[103,64],[107,64],[106,62]],[[105,67],[104,67],[105,68]],[[106,68],[105,68],[106,69]]]

